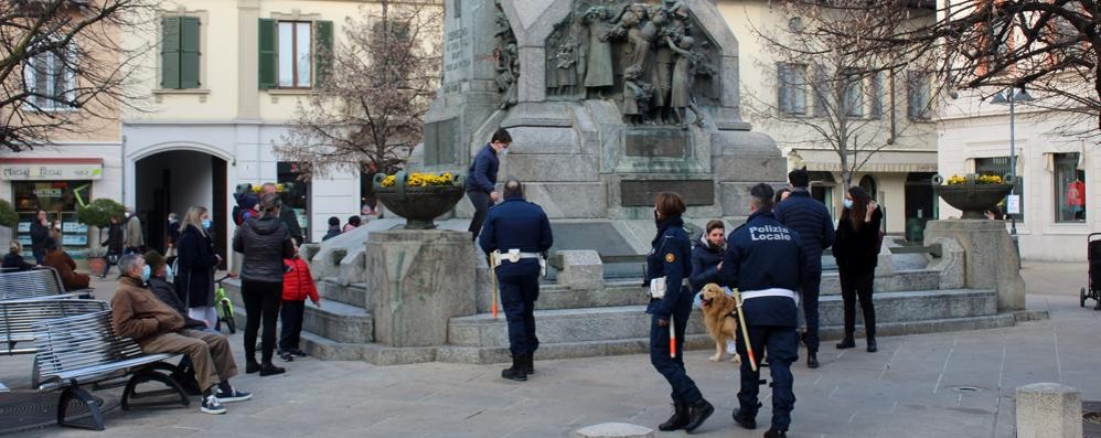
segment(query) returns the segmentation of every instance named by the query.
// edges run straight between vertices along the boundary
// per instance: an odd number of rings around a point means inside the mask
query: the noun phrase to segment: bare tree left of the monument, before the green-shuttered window
[[[276,153],[307,164],[310,175],[403,167],[439,87],[442,14],[438,1],[413,0],[384,1],[381,17],[364,7],[349,18],[319,93],[299,104]]]

